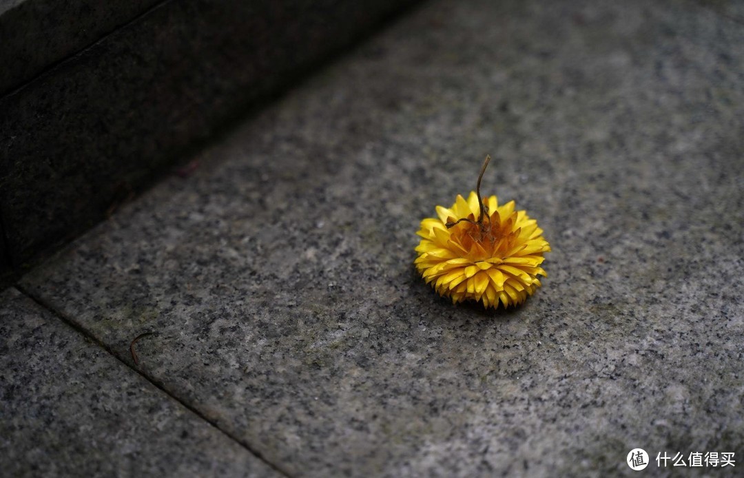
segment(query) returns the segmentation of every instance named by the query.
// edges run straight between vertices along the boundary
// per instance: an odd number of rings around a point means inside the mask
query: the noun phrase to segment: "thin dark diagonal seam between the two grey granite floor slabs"
[[[159,381],[156,381],[153,377],[150,375],[147,375],[146,373],[142,372],[139,369],[136,369],[129,365],[126,361],[124,361],[121,356],[117,355],[109,346],[106,346],[106,343],[103,343],[101,340],[99,340],[97,337],[92,335],[88,330],[83,328],[83,326],[80,326],[78,323],[76,323],[74,320],[72,320],[70,317],[67,317],[65,314],[63,314],[60,311],[57,311],[57,309],[54,309],[50,304],[46,303],[45,300],[36,297],[35,295],[31,294],[30,291],[28,291],[25,287],[22,285],[16,284],[13,285],[13,287],[16,288],[17,291],[21,292],[21,294],[24,294],[26,297],[28,297],[30,300],[33,300],[36,305],[42,307],[43,309],[48,310],[51,314],[53,314],[55,317],[60,319],[62,323],[65,323],[67,326],[71,327],[75,332],[79,333],[80,335],[83,335],[83,337],[86,337],[88,340],[91,340],[93,343],[95,343],[97,346],[100,346],[101,349],[106,350],[106,352],[109,353],[113,358],[115,358],[118,362],[121,364],[124,364],[126,368],[132,370],[133,372],[137,373],[138,375],[141,375],[145,380],[150,382],[150,384],[153,384],[158,390],[160,390],[162,393],[167,395],[167,397],[177,401],[179,404],[181,404],[183,407],[186,408],[186,410],[189,410],[191,413],[198,416],[200,419],[204,420],[208,424],[210,424],[212,427],[214,427],[216,430],[218,430],[220,433],[223,433],[225,436],[227,436],[229,439],[233,440],[234,442],[237,442],[238,445],[245,448],[250,452],[253,456],[256,456],[257,459],[260,459],[262,462],[266,463],[269,468],[272,468],[272,470],[276,471],[278,474],[281,474],[287,478],[292,478],[292,475],[289,474],[288,471],[284,470],[280,467],[280,465],[277,465],[275,463],[270,462],[268,459],[266,459],[261,453],[259,453],[257,450],[254,450],[254,448],[251,447],[251,445],[248,445],[246,442],[243,442],[243,440],[237,438],[237,436],[234,436],[232,433],[223,430],[222,427],[219,427],[217,423],[215,423],[213,420],[208,419],[202,412],[199,411],[196,407],[193,407],[190,404],[187,404],[185,401],[183,401],[181,398],[177,397],[176,395],[173,395],[173,393],[170,393],[163,384],[161,384]]]

